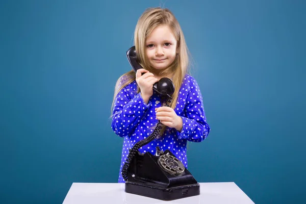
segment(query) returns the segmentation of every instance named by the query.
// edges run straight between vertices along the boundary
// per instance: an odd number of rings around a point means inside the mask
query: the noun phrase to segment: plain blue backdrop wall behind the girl
[[[169,8],[212,132],[188,144],[198,182],[256,203],[306,199],[304,1],[1,1],[1,203],[61,203],[73,182],[116,183],[111,104],[138,17]]]

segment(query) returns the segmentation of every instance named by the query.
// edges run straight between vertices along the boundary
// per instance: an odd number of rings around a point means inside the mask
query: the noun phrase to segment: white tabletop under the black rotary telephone
[[[199,184],[200,195],[171,201],[163,201],[155,198],[125,193],[125,184],[73,183],[65,197],[63,204],[254,203],[234,182]]]

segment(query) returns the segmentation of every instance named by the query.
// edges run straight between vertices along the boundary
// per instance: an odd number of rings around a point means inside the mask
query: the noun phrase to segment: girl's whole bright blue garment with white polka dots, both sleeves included
[[[161,97],[156,92],[148,104],[145,104],[140,93],[137,93],[136,81],[126,85],[115,97],[112,129],[118,136],[123,137],[118,183],[125,183],[121,169],[129,150],[154,131],[158,123],[155,108],[161,106]],[[155,154],[157,146],[163,151],[169,149],[187,168],[187,141],[201,142],[210,132],[201,92],[191,75],[187,74],[183,80],[174,111],[183,120],[182,131],[168,127],[162,137],[140,147],[139,151]]]

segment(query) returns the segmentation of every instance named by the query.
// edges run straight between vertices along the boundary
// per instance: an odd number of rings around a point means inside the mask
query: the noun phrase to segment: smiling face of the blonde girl
[[[167,25],[156,27],[146,39],[146,57],[152,67],[167,68],[176,56],[176,39]]]

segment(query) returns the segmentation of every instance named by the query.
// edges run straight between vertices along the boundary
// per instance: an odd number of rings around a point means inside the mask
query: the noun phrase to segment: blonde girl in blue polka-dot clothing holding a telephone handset
[[[149,8],[140,16],[134,35],[139,64],[144,69],[123,74],[115,87],[112,129],[124,138],[118,183],[125,183],[122,166],[129,150],[148,137],[160,120],[159,137],[140,147],[155,154],[156,147],[169,149],[187,168],[187,141],[201,142],[210,127],[206,122],[197,82],[187,74],[188,51],[179,22],[168,9]],[[170,107],[152,86],[170,78],[175,91]]]

